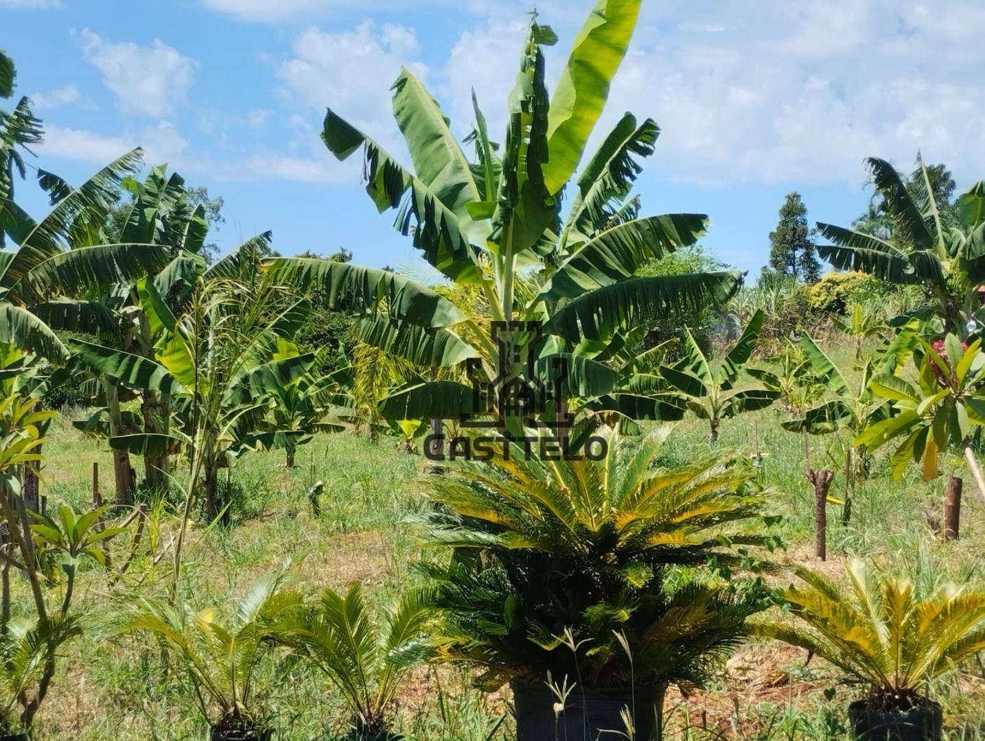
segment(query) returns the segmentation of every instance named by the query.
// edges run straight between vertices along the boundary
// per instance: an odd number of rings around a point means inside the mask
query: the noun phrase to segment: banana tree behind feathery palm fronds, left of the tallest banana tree
[[[192,290],[164,298],[156,281],[143,285],[140,311],[158,338],[153,358],[84,340],[71,340],[80,361],[119,383],[167,395],[174,420],[165,432],[109,439],[114,450],[143,456],[183,451],[189,496],[199,484],[206,510],[225,506],[219,471],[244,452],[283,448],[302,430],[263,430],[271,395],[310,370],[313,353],[286,342],[310,310],[260,274],[255,240],[192,276]],[[202,266],[201,261],[196,265]]]

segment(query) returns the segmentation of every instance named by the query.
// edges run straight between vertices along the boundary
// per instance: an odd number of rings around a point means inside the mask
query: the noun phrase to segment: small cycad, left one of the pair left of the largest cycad
[[[303,601],[287,578],[283,569],[261,579],[230,619],[214,608],[196,612],[186,602],[141,598],[120,631],[158,639],[183,669],[198,710],[214,729],[230,738],[269,738],[263,735],[265,718],[256,706],[254,679],[277,646],[277,624]]]

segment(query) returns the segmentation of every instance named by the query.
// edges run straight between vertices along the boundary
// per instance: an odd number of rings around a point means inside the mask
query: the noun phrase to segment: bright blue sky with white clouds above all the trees
[[[344,247],[363,265],[421,271],[364,193],[358,155],[338,162],[318,139],[325,109],[409,163],[389,92],[403,65],[456,135],[471,130],[474,89],[501,139],[531,6],[0,0],[0,49],[45,124],[34,166],[78,183],[139,145],[147,164],[223,197],[224,251],[270,229],[282,254]],[[591,6],[537,3],[560,36],[549,83]],[[755,275],[790,191],[812,221],[865,210],[866,156],[909,171],[922,151],[959,191],[985,177],[983,28],[980,0],[643,0],[595,141],[626,110],[655,119],[643,214],[709,215],[703,243]],[[45,211],[33,186],[18,199]]]

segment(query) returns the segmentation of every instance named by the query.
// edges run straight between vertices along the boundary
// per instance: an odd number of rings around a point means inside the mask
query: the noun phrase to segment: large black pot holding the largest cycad
[[[635,741],[660,738],[667,684],[644,685],[630,689],[577,685],[567,696],[564,710],[555,713],[558,698],[543,681],[514,679],[513,705],[516,710],[517,741],[595,741],[620,738],[625,733],[623,709],[632,710]]]

